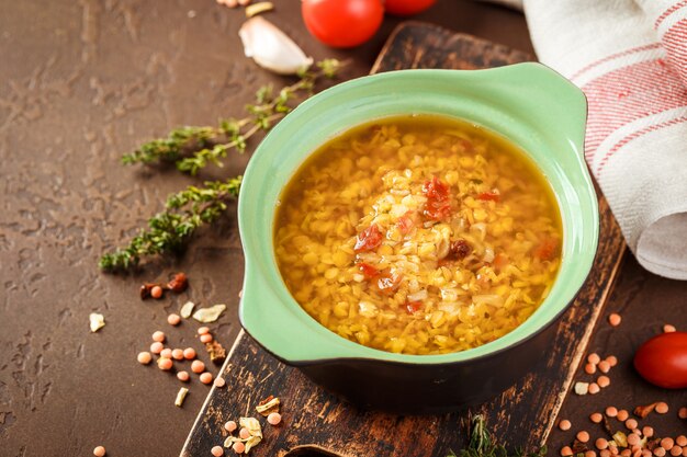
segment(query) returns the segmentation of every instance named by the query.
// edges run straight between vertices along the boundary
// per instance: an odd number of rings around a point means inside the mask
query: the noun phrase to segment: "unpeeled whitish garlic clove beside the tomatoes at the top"
[[[274,24],[261,16],[249,19],[238,31],[246,57],[279,75],[294,75],[313,65],[313,59]]]

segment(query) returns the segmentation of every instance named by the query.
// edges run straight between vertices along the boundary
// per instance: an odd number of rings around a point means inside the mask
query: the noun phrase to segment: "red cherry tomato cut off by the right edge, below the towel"
[[[637,350],[634,368],[666,389],[687,388],[687,332],[662,333]]]

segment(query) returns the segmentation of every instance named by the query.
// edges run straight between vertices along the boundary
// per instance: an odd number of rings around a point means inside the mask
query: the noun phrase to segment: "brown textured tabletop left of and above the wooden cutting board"
[[[266,18],[315,58],[349,57],[369,72],[399,21],[370,43],[335,52],[309,37],[295,0]],[[240,171],[247,157],[198,180],[124,168],[119,158],[181,124],[239,116],[271,77],[243,56],[241,10],[213,0],[0,1],[0,456],[177,455],[207,388],[192,382],[183,409],[171,375],[135,362],[150,333],[193,345],[194,322],[165,316],[187,299],[229,301],[241,277],[235,219],[200,233],[187,255],[139,277],[103,275],[99,255],[122,243],[182,186]],[[521,14],[458,0],[415,19],[531,50]],[[137,286],[185,271],[179,297],[142,302]],[[235,300],[230,300],[235,302]],[[92,311],[105,316],[95,334]],[[228,309],[216,335],[238,332]]]

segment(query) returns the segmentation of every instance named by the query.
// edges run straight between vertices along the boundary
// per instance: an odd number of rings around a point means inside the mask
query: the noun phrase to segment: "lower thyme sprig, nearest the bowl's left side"
[[[166,209],[148,220],[148,228],[100,259],[106,272],[135,269],[144,258],[179,252],[195,230],[215,221],[227,208],[226,202],[238,196],[241,176],[206,182],[204,187],[189,186],[168,197]],[[142,289],[142,297],[143,297]]]

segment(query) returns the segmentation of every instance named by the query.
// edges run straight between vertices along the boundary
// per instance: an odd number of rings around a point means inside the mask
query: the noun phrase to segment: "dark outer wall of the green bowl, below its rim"
[[[556,327],[549,324],[518,345],[464,362],[427,365],[333,358],[296,366],[316,384],[362,409],[444,413],[484,403],[522,379],[551,349]]]

